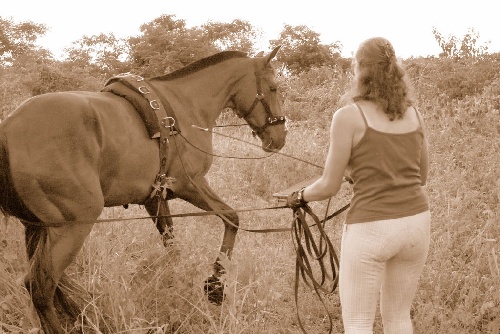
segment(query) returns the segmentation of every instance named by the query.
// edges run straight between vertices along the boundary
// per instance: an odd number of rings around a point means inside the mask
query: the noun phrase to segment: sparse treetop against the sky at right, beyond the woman
[[[432,33],[437,43],[443,50],[441,56],[454,59],[460,58],[479,58],[487,54],[490,41],[484,45],[478,45],[479,33],[474,28],[469,28],[467,33],[462,38],[455,36],[443,37],[441,33],[432,28]]]

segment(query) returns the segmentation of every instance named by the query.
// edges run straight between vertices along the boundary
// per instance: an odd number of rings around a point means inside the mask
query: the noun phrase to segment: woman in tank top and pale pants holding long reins
[[[410,307],[430,241],[422,186],[428,156],[411,86],[385,38],[370,38],[330,128],[323,175],[293,193],[290,207],[334,196],[344,173],[353,198],[342,235],[339,293],[346,333],[373,333],[380,298],[385,333],[412,333]]]

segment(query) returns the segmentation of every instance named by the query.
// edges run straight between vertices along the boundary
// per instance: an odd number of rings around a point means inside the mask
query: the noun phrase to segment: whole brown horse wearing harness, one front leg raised
[[[285,145],[271,64],[278,49],[253,57],[223,51],[169,74],[131,75],[142,84],[137,91],[143,97],[156,94],[160,100],[147,101],[154,112],[169,112],[161,119],[155,114],[159,136],[148,131],[137,105],[105,89],[35,96],[0,124],[0,209],[25,227],[30,266],[24,284],[46,334],[64,333],[63,317],[79,314],[65,289],[75,282],[64,271],[104,207],[143,205],[160,233],[172,224],[170,199],[214,211],[225,226],[220,254],[231,256],[238,215],[205,178],[213,160],[212,133],[200,129],[212,129],[230,108],[264,151]],[[224,272],[219,259],[207,285]]]

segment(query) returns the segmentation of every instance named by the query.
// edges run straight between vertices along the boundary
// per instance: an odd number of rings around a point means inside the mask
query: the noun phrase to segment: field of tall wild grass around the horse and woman
[[[420,64],[415,63],[411,67]],[[426,67],[428,68],[428,67]],[[497,72],[498,73],[498,72]],[[500,332],[500,78],[480,91],[452,98],[428,74],[411,72],[418,107],[430,142],[432,240],[412,308],[416,333]],[[498,74],[497,74],[498,75]],[[236,209],[276,205],[274,192],[319,175],[328,127],[347,77],[323,70],[283,79],[284,109],[290,117],[286,155],[266,156],[254,146],[214,137],[218,157],[208,177]],[[220,124],[240,122],[224,114]],[[257,143],[248,127],[216,130]],[[294,159],[293,157],[297,158]],[[345,184],[329,212],[349,201]],[[326,203],[315,203],[323,215]],[[196,212],[181,201],[172,213]],[[175,239],[165,248],[138,206],[107,208],[68,273],[85,290],[84,311],[73,330],[84,333],[298,334],[297,313],[308,333],[342,332],[337,291],[324,295],[301,286],[294,298],[295,252],[291,234],[240,231],[232,261],[224,261],[226,299],[209,303],[203,281],[220,246],[222,223],[213,216],[174,220]],[[1,217],[1,216],[0,216]],[[240,214],[243,228],[290,227],[291,210]],[[39,322],[22,278],[27,269],[22,225],[0,223],[0,333],[38,333]],[[343,214],[327,223],[339,248]],[[382,333],[379,316],[375,333]]]

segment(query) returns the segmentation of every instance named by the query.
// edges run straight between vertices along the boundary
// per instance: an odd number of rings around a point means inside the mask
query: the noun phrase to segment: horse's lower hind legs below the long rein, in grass
[[[64,333],[57,315],[66,313],[68,320],[76,320],[79,309],[61,290],[68,278],[64,269],[73,261],[92,224],[63,227],[38,227],[26,225],[26,248],[30,259],[25,278],[35,310],[45,334]]]

